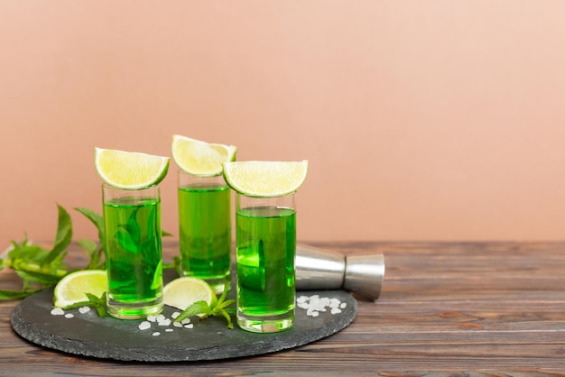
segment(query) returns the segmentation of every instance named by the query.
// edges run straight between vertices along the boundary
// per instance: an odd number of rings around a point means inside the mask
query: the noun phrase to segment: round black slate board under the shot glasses
[[[140,330],[142,320],[101,318],[95,310],[79,313],[66,310],[74,317],[53,316],[52,290],[43,290],[23,299],[12,312],[14,331],[36,345],[102,359],[138,362],[181,362],[235,358],[267,354],[306,345],[330,336],[349,325],[357,316],[357,301],[343,290],[298,291],[297,297],[320,295],[346,303],[341,313],[320,311],[318,317],[307,316],[296,308],[295,325],[281,333],[255,334],[234,323],[227,328],[224,318],[193,319],[193,328],[158,326]],[[163,315],[170,318],[179,311],[165,306]],[[235,318],[234,318],[235,319]],[[234,321],[235,322],[235,321]],[[172,328],[172,332],[165,332]],[[154,332],[161,335],[153,336]]]

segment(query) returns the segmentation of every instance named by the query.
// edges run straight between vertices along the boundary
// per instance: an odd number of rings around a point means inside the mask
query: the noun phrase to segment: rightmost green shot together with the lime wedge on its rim
[[[236,191],[236,320],[246,331],[274,333],[294,326],[295,191],[308,161],[224,164]]]

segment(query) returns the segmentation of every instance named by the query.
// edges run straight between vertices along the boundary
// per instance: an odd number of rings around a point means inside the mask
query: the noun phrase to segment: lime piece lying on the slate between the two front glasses
[[[218,300],[214,290],[204,280],[184,276],[171,280],[162,289],[165,305],[184,310],[197,301],[205,301],[209,306]]]

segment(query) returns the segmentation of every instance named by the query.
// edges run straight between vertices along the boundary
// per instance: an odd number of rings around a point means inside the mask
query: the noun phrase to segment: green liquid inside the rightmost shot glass
[[[278,316],[294,309],[296,212],[254,207],[236,214],[237,309],[245,316]]]

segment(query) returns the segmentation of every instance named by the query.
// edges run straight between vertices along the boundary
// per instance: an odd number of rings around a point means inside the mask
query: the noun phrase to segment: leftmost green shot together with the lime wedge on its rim
[[[159,183],[169,158],[95,149],[104,180],[102,204],[107,271],[107,311],[138,319],[162,311],[162,230]]]

